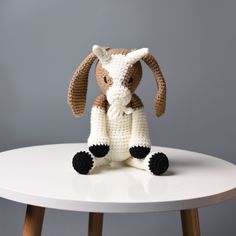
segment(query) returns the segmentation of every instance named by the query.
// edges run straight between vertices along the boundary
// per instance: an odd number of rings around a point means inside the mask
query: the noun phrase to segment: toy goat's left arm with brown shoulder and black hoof
[[[89,151],[95,157],[104,157],[109,152],[109,138],[106,131],[106,97],[97,96],[91,111]]]

